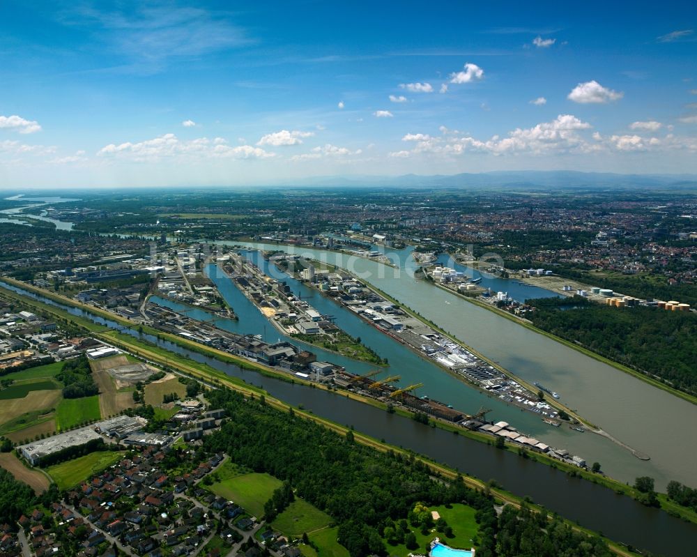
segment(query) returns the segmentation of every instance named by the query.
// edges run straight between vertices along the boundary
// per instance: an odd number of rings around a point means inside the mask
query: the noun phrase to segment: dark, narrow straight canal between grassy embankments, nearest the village
[[[134,337],[138,336],[136,331],[124,329],[114,321],[91,316],[74,307],[54,303],[43,296],[6,284],[0,284],[0,288],[24,293],[44,303],[63,307],[71,314],[86,316],[96,323],[121,330]],[[385,439],[392,445],[429,455],[438,462],[482,480],[495,479],[512,493],[530,496],[549,510],[577,521],[586,528],[602,531],[612,540],[629,543],[634,547],[648,549],[668,557],[689,555],[697,543],[697,525],[669,517],[668,514],[657,509],[646,508],[629,497],[619,496],[596,484],[579,478],[569,478],[565,473],[549,466],[523,459],[511,452],[501,451],[491,445],[463,436],[418,424],[409,418],[388,414],[362,402],[347,399],[337,392],[286,383],[207,358],[157,337],[150,335],[142,335],[142,337],[168,350],[186,354],[192,360],[207,363],[247,383],[260,386],[273,397],[289,404],[294,406],[302,404],[305,409],[316,415],[344,425],[353,425],[358,432]]]

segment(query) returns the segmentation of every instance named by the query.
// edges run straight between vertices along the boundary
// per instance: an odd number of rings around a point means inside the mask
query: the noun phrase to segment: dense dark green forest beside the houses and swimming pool
[[[609,555],[599,538],[574,533],[557,520],[548,523],[524,506],[507,507],[498,518],[489,494],[469,489],[461,478],[438,481],[414,457],[367,448],[355,443],[350,431],[341,436],[292,411],[277,411],[263,397],[245,399],[230,390],[215,390],[208,398],[231,418],[204,438],[206,450],[227,452],[236,464],[282,480],[286,487],[270,508],[289,501],[292,486],[334,519],[339,542],[351,557],[387,555],[384,539],[404,533],[398,524],[404,524],[418,503],[475,508],[479,557]]]

